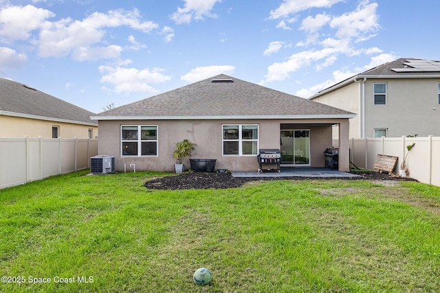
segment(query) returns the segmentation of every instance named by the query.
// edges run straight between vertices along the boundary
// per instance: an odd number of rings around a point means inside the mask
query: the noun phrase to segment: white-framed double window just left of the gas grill
[[[258,125],[223,125],[223,155],[258,154]]]

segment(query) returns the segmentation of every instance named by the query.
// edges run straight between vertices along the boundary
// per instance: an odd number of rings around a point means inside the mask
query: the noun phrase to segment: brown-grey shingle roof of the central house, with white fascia
[[[116,119],[352,118],[355,114],[228,75],[188,84],[99,113]]]

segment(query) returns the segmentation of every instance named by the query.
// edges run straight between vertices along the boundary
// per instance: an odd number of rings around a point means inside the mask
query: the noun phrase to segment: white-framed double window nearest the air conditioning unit
[[[157,126],[121,128],[122,156],[157,156]]]

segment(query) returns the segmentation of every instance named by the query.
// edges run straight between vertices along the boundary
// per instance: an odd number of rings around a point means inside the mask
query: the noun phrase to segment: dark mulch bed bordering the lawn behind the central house
[[[351,172],[362,177],[344,177],[344,178],[316,178],[316,177],[265,177],[265,178],[235,178],[230,173],[202,173],[187,172],[174,176],[156,178],[144,183],[148,189],[225,189],[241,187],[247,182],[256,180],[307,180],[307,179],[342,179],[342,180],[401,180],[417,181],[413,178],[402,178],[388,176],[385,173],[378,172]]]

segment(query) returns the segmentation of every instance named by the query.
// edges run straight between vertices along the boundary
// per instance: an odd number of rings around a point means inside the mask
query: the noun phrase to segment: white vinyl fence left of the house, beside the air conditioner
[[[0,138],[0,189],[88,169],[98,139]]]

